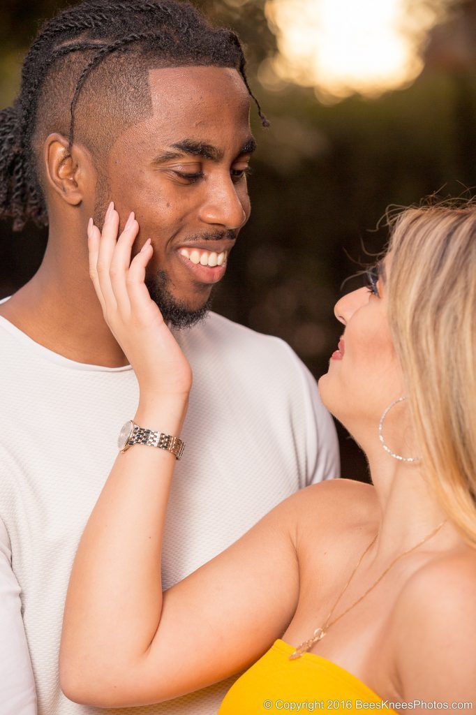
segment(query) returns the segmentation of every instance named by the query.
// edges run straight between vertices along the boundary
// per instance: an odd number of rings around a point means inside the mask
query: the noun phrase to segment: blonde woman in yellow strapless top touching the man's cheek
[[[131,262],[139,226],[132,214],[116,240],[118,225],[114,211],[102,235],[90,222],[91,277],[139,380],[134,423],[178,437],[192,373],[144,285],[152,247]],[[176,458],[119,453],[71,574],[60,656],[70,699],[149,704],[249,668],[220,715],[415,699],[470,710],[476,210],[402,213],[369,282],[337,302],[344,332],[319,391],[365,450],[373,486],[292,495],[162,593]]]

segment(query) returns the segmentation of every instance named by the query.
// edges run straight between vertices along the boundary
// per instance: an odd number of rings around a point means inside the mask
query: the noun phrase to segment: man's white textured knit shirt
[[[332,420],[314,380],[284,342],[214,314],[177,337],[194,386],[182,432],[187,448],[167,516],[164,588],[223,551],[295,490],[339,470]],[[80,706],[61,693],[57,660],[71,564],[114,463],[119,430],[137,408],[138,385],[130,366],[75,363],[3,317],[0,360],[0,559],[9,589],[0,601],[0,609],[9,608],[9,617],[5,611],[0,617],[0,625],[5,618],[9,623],[0,633],[0,664],[2,648],[5,659],[12,649],[18,659],[24,649],[21,598],[39,715],[217,713],[232,680],[121,711]],[[23,672],[28,703],[27,661]],[[1,715],[30,715],[26,705],[16,709],[17,692],[18,683],[9,690],[0,672]]]

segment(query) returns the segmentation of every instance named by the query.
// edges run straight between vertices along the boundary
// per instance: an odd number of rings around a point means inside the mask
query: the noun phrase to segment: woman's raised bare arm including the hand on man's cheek
[[[102,237],[91,227],[91,277],[139,380],[134,421],[179,436],[189,365],[144,285],[152,249],[131,262],[137,222],[116,241],[118,225],[113,211]],[[162,594],[174,465],[174,455],[145,445],[119,453],[89,518],[61,640],[61,687],[72,700],[134,706],[199,689],[256,660],[292,618],[299,593],[295,498]]]

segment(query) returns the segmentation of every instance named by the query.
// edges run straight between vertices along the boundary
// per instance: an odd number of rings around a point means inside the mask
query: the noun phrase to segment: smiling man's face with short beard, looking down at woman
[[[139,222],[134,253],[152,239],[153,300],[183,327],[207,311],[249,218],[249,94],[236,70],[219,67],[154,69],[149,84],[152,117],[114,144],[109,185],[122,227],[130,211]]]

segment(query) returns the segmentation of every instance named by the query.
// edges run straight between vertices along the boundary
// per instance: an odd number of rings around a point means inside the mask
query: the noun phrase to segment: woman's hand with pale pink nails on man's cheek
[[[192,370],[144,283],[150,239],[131,260],[139,224],[131,212],[119,238],[119,214],[109,204],[102,232],[88,225],[89,275],[104,320],[134,369],[141,396],[187,399]]]

